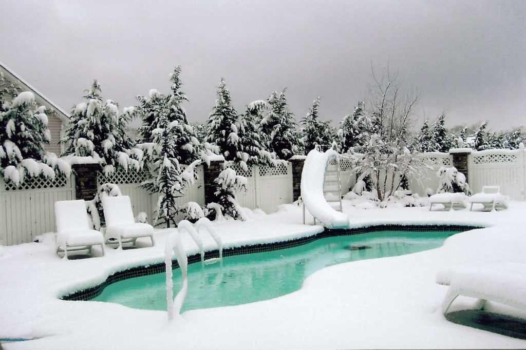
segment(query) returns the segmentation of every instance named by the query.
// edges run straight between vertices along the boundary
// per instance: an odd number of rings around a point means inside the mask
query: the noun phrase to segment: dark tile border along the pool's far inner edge
[[[274,250],[281,250],[287,248],[294,248],[299,245],[308,244],[316,240],[327,238],[327,237],[336,237],[336,236],[345,236],[345,235],[355,235],[369,232],[378,232],[378,231],[405,231],[405,232],[424,232],[424,231],[468,231],[473,229],[480,229],[480,226],[474,225],[397,225],[397,224],[380,224],[380,225],[370,225],[367,227],[361,228],[352,228],[352,229],[325,229],[320,233],[317,233],[312,236],[302,237],[294,240],[283,241],[283,242],[274,242],[274,243],[262,243],[254,245],[245,245],[237,246],[232,248],[227,248],[223,250],[223,256],[232,256],[232,255],[242,255],[242,254],[252,254],[252,253],[262,253],[269,252]],[[219,251],[208,251],[205,252],[205,259],[218,258]],[[188,264],[193,264],[201,261],[201,255],[193,254],[188,256]],[[179,264],[177,260],[172,261],[172,269],[178,269]],[[91,300],[94,297],[98,296],[105,289],[106,286],[127,280],[133,277],[153,275],[156,273],[165,272],[165,263],[156,263],[148,266],[137,266],[131,267],[130,269],[124,271],[118,271],[114,274],[108,276],[106,281],[96,285],[94,287],[87,288],[82,291],[77,291],[68,295],[62,296],[62,300],[73,300],[73,301],[87,301]]]

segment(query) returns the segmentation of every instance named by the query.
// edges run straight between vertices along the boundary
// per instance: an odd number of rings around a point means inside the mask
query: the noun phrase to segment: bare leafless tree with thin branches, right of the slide
[[[363,118],[366,142],[352,150],[350,157],[360,180],[370,176],[382,201],[399,188],[402,176],[418,178],[426,168],[419,153],[407,147],[420,94],[415,88],[404,90],[398,71],[392,73],[389,64],[381,75],[373,68],[371,71],[372,83],[365,99],[367,118]]]

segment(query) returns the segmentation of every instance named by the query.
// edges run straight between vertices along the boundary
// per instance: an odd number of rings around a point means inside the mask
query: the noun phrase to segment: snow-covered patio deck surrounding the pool
[[[153,248],[109,250],[101,258],[71,261],[59,259],[53,235],[48,234],[42,243],[0,246],[0,338],[39,338],[2,345],[7,350],[526,347],[526,341],[446,321],[440,306],[448,287],[435,283],[436,273],[450,264],[526,263],[525,202],[510,202],[508,210],[499,212],[358,210],[345,202],[344,211],[352,227],[389,223],[487,228],[454,235],[431,251],[330,266],[309,276],[297,292],[188,311],[170,324],[166,312],[58,299],[127,267],[162,262],[166,231],[156,232],[158,244]],[[247,222],[215,226],[225,247],[289,240],[322,230],[301,222],[301,208],[284,205],[275,214],[254,213]],[[197,252],[187,233],[183,241],[188,253]],[[510,312],[494,303],[487,308]]]

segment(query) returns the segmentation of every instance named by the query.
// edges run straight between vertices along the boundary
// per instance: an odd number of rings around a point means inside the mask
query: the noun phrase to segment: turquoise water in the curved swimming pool
[[[438,248],[458,232],[380,231],[338,236],[296,248],[228,256],[222,264],[191,264],[181,311],[268,300],[299,290],[307,276],[324,267]],[[174,270],[174,295],[181,285],[180,270]],[[111,284],[92,300],[166,311],[166,274]]]

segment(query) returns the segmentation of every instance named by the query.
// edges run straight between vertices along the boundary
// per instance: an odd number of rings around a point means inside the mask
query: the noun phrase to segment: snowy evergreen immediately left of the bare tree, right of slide
[[[359,149],[365,144],[363,136],[363,133],[366,131],[365,122],[364,104],[360,101],[352,114],[343,117],[340,123],[338,137],[341,153],[346,153],[351,148]]]

